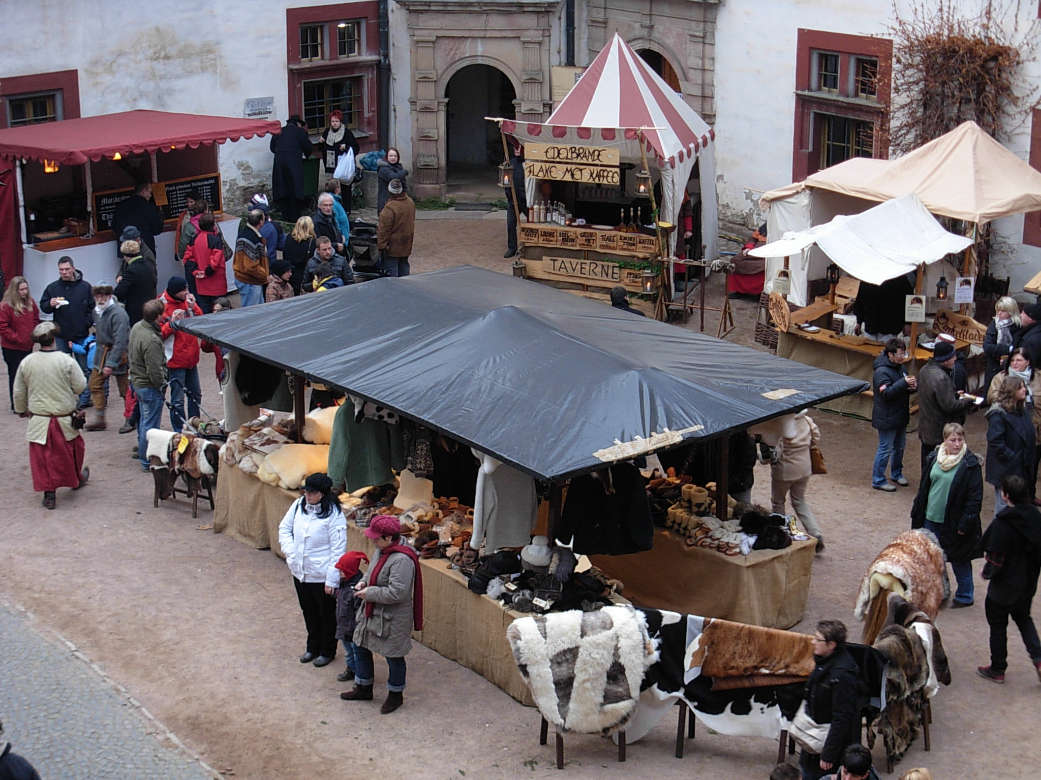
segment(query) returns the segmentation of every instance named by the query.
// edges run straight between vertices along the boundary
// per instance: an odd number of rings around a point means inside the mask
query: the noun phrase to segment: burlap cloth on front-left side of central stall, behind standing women
[[[234,500],[232,501],[232,496]],[[225,466],[217,483],[213,532],[225,534],[252,547],[271,547],[279,557],[278,524],[299,492],[282,490]],[[347,548],[375,557],[376,546],[361,528],[348,523]],[[421,561],[424,588],[424,628],[412,639],[446,658],[477,672],[522,704],[533,705],[531,692],[517,671],[506,641],[506,628],[520,613],[507,609],[487,596],[473,593],[465,578],[448,568],[448,561]]]

